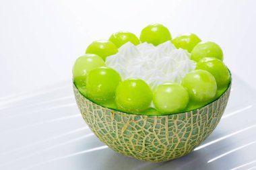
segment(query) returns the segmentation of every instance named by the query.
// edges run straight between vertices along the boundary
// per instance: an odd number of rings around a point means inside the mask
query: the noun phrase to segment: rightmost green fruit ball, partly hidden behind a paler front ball
[[[230,83],[230,73],[226,65],[217,58],[202,58],[197,62],[196,69],[209,71],[214,76],[218,89],[221,87],[228,87]]]

